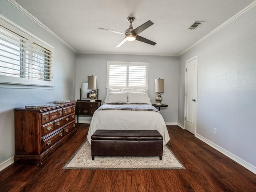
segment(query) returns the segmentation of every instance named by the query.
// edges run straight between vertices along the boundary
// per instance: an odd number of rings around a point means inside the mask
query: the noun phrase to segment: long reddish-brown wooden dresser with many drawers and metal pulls
[[[14,163],[42,164],[43,160],[76,134],[76,102],[46,108],[15,108]]]

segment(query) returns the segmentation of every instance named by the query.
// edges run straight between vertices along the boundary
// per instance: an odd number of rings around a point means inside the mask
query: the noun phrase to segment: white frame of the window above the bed
[[[127,66],[126,68],[126,86],[110,86],[109,85],[109,66],[110,65],[123,65]],[[129,66],[146,66],[146,85],[145,86],[129,86]],[[149,63],[148,62],[117,62],[117,61],[108,61],[107,62],[107,80],[106,80],[106,88],[134,88],[134,89],[146,89],[148,90],[148,68]]]

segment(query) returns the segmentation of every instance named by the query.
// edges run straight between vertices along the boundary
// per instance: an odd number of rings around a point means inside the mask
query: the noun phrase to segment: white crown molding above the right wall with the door
[[[239,18],[240,16],[242,16],[244,13],[246,13],[247,11],[249,11],[250,9],[254,8],[254,6],[256,6],[256,0],[254,2],[252,2],[251,4],[249,4],[248,6],[246,6],[244,9],[242,9],[240,12],[238,12],[237,14],[235,14],[234,16],[232,16],[230,19],[226,20],[224,23],[222,23],[220,26],[218,26],[217,28],[215,28],[214,30],[212,30],[210,33],[208,33],[206,36],[204,36],[203,38],[201,38],[200,40],[198,40],[196,43],[194,43],[192,46],[190,46],[189,48],[187,48],[186,50],[182,51],[180,54],[178,54],[178,56],[181,56],[182,54],[186,53],[188,50],[192,49],[194,46],[196,46],[197,44],[199,44],[200,42],[206,40],[208,37],[210,37],[211,35],[213,35],[214,33],[218,32],[219,30],[221,30],[222,28],[226,27],[228,24],[230,24],[231,22],[233,22],[234,20],[236,20],[237,18]]]

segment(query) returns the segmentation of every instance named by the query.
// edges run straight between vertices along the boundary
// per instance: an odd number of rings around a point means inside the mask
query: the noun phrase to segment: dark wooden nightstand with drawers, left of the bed
[[[76,115],[77,123],[79,115],[92,116],[94,112],[100,107],[101,100],[96,100],[96,102],[90,102],[89,100],[77,100],[76,103]]]

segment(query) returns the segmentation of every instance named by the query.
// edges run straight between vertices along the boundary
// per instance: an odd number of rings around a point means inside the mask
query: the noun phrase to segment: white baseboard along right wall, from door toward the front
[[[254,174],[256,174],[256,167],[255,166],[253,166],[250,163],[242,160],[241,158],[239,158],[238,156],[230,153],[229,151],[225,150],[224,148],[214,144],[213,142],[211,142],[210,140],[204,138],[203,136],[201,136],[201,135],[199,135],[197,133],[195,134],[195,136],[196,136],[196,138],[198,138],[198,139],[202,140],[203,142],[205,142],[206,144],[210,145],[212,148],[214,148],[217,151],[221,152],[222,154],[228,156],[230,159],[234,160],[238,164],[242,165],[246,169],[248,169],[251,172],[253,172]]]

